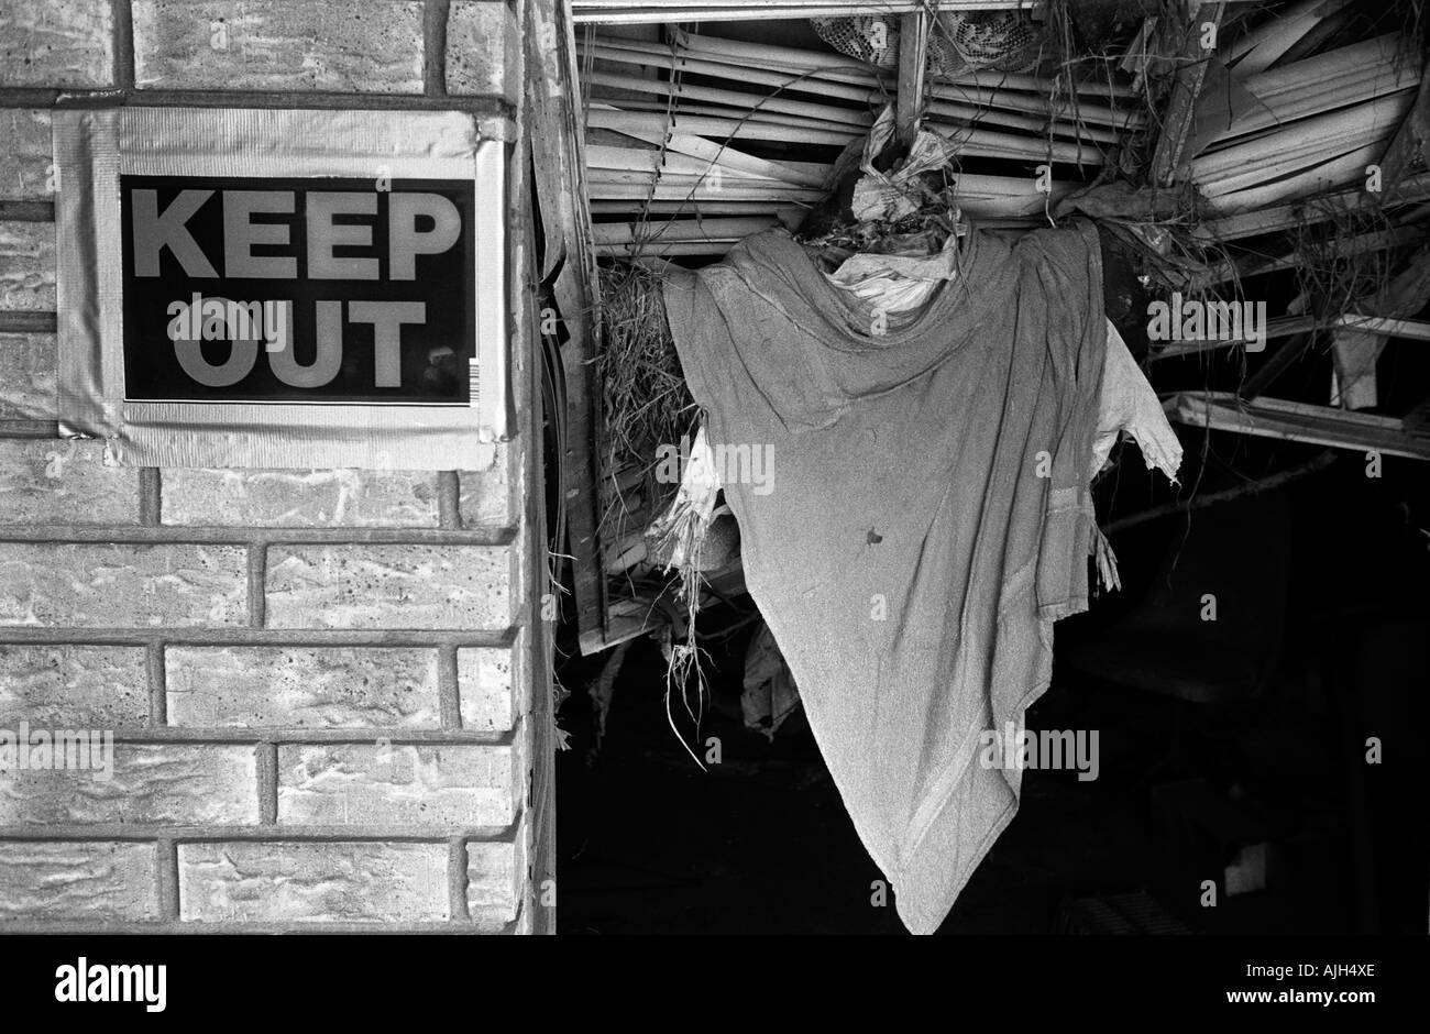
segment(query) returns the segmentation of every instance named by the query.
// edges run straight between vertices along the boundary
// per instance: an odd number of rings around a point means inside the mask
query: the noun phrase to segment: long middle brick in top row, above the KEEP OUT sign
[[[420,3],[134,1],[140,87],[422,93],[422,66]]]

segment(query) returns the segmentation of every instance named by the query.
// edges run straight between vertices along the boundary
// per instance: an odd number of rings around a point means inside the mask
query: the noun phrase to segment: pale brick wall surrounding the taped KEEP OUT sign
[[[114,734],[109,779],[0,772],[0,930],[552,928],[519,17],[0,0],[0,729]],[[87,92],[503,127],[513,440],[446,472],[60,440],[50,109]]]

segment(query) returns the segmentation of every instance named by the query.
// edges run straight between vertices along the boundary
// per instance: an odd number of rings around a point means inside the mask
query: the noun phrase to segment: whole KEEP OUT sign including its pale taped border
[[[470,114],[53,126],[61,435],[123,465],[395,469],[508,436],[505,144]]]

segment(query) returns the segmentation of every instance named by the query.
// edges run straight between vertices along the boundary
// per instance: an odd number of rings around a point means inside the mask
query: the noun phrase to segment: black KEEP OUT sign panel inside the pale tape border
[[[122,176],[124,398],[468,403],[468,180]]]

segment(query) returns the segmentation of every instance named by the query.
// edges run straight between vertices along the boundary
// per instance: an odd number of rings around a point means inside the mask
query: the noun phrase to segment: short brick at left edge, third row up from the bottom
[[[119,729],[149,718],[143,646],[0,646],[0,728]]]

